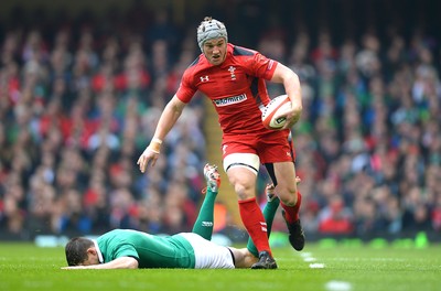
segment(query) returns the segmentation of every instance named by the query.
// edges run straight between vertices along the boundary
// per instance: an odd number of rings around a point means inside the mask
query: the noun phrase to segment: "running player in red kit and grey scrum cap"
[[[238,197],[241,220],[259,251],[252,269],[276,269],[263,215],[256,202],[256,182],[265,164],[281,201],[289,240],[297,250],[304,247],[299,219],[301,195],[295,184],[294,150],[290,129],[302,112],[299,77],[283,64],[257,51],[228,43],[224,23],[205,18],[197,28],[202,54],[186,68],[181,85],[165,106],[150,144],[138,159],[141,172],[154,166],[161,144],[197,90],[212,101],[223,130],[223,165]],[[266,80],[283,85],[291,100],[281,130],[266,129],[261,108],[270,98]]]

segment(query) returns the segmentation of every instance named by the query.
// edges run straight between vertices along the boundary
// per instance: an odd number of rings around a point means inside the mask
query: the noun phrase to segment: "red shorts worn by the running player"
[[[295,161],[295,151],[288,129],[255,134],[225,134],[222,152],[223,159],[232,153],[254,153],[262,164]]]

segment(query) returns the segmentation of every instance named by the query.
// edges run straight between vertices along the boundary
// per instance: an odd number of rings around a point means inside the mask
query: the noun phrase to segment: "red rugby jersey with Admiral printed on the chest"
[[[265,79],[271,79],[277,64],[259,52],[228,43],[223,64],[214,66],[201,54],[186,68],[176,96],[190,103],[196,90],[206,95],[224,133],[267,131],[259,106],[270,101]]]

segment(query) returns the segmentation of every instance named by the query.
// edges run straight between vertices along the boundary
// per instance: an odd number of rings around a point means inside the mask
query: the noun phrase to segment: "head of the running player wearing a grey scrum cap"
[[[197,43],[201,52],[213,65],[219,65],[224,62],[228,33],[225,24],[220,21],[206,17],[197,28]]]

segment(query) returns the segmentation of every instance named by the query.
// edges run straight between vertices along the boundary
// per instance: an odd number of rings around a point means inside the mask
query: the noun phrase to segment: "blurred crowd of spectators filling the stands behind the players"
[[[200,54],[204,15],[300,76],[292,131],[306,236],[440,237],[440,3],[203,2],[182,1],[185,17],[176,1],[78,13],[17,4],[1,19],[0,239],[191,229],[209,162],[204,96],[154,170],[141,174],[137,160]],[[226,216],[218,231],[240,229]],[[286,231],[280,217],[275,229]]]

